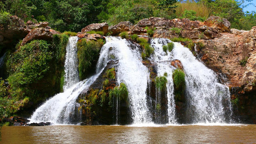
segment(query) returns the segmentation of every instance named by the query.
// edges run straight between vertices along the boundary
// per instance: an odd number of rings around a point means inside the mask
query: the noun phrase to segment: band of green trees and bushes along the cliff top
[[[136,24],[152,16],[204,21],[211,15],[228,19],[231,28],[250,30],[256,13],[243,12],[248,4],[250,0],[2,0],[0,9],[25,21],[48,21],[61,32],[78,32],[98,22]]]

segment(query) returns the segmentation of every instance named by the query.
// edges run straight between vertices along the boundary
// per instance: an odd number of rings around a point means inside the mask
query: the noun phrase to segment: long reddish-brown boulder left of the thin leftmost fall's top
[[[60,34],[56,30],[47,28],[35,28],[29,32],[29,34],[22,40],[22,46],[32,40],[52,40],[53,34]]]

